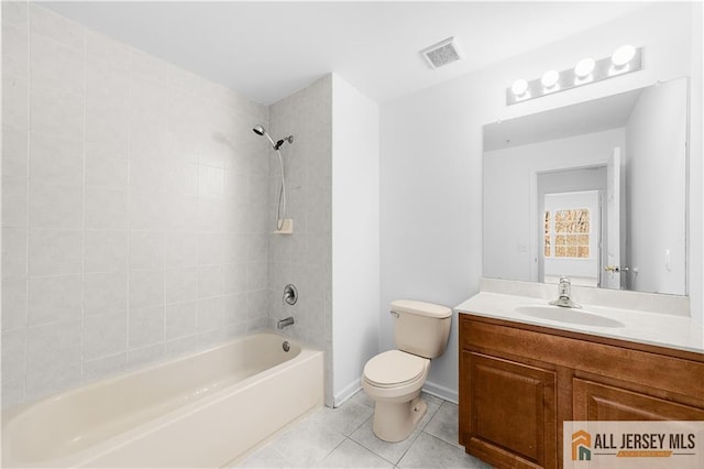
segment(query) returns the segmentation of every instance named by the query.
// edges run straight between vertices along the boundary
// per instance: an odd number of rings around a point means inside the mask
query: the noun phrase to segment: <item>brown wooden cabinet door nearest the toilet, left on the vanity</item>
[[[556,373],[462,352],[468,452],[497,466],[557,467]]]

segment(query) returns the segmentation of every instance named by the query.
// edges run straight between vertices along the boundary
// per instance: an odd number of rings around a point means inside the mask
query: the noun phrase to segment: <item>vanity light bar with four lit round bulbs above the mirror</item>
[[[637,72],[642,68],[642,47],[623,45],[609,57],[586,57],[574,68],[562,72],[548,70],[542,77],[532,80],[519,78],[506,88],[506,105],[515,105],[556,91],[575,88],[590,83],[601,81],[616,76]]]

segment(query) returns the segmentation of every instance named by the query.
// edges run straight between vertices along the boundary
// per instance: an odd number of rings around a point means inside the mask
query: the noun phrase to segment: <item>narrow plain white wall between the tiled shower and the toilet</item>
[[[332,75],[334,405],[378,352],[378,105]]]

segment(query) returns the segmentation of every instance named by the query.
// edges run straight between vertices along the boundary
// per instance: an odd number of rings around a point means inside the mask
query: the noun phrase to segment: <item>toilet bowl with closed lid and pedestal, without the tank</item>
[[[364,367],[362,389],[376,402],[372,428],[385,441],[402,441],[426,415],[420,390],[428,378],[430,360],[389,350]]]

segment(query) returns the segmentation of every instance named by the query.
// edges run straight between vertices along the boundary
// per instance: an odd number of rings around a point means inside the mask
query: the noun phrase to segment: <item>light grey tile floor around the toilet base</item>
[[[374,402],[359,391],[339,408],[314,412],[235,467],[491,468],[457,443],[457,404],[425,393],[424,400],[428,413],[404,441],[374,435]]]

